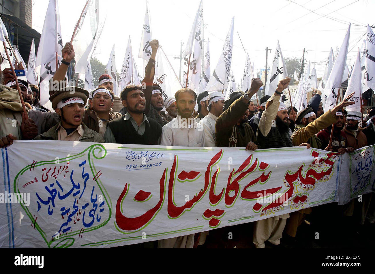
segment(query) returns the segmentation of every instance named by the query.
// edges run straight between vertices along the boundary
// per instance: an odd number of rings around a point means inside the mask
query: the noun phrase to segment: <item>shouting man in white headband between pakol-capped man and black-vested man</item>
[[[113,100],[114,93],[112,91],[107,90],[104,86],[98,87],[92,92],[92,108],[85,109],[83,115],[83,123],[102,137],[107,130],[108,122],[122,116],[119,112],[110,112]]]

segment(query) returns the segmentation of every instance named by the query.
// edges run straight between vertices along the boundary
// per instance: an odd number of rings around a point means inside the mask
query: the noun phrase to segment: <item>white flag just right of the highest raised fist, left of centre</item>
[[[162,88],[164,100],[183,88],[161,45],[156,56],[154,83]]]

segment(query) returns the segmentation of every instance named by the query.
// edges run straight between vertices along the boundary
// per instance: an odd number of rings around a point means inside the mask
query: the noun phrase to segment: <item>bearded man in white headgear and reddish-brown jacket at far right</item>
[[[362,120],[362,112],[359,111],[348,111],[345,115],[347,123],[344,128],[346,135],[346,145],[348,149],[356,150],[361,147],[367,146],[367,138],[365,133],[359,127],[359,121]]]

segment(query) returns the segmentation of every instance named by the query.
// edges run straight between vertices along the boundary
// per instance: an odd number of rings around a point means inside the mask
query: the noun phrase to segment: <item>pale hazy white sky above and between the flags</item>
[[[58,0],[63,42],[71,39],[74,26],[86,0]],[[179,72],[180,42],[186,43],[200,0],[149,0],[151,32],[159,40],[176,73]],[[48,0],[33,0],[33,28],[42,32]],[[100,0],[100,21],[104,30],[94,53],[103,64],[115,44],[116,68],[121,70],[127,40],[131,38],[133,56],[138,58],[145,0]],[[223,40],[234,16],[234,46],[232,70],[237,83],[241,82],[246,53],[255,61],[255,72],[264,68],[267,46],[269,65],[273,60],[277,40],[284,58],[302,57],[316,65],[318,77],[323,76],[329,50],[341,46],[349,22],[351,25],[348,66],[354,64],[367,24],[374,24],[373,0],[203,0],[203,19],[207,24],[204,40],[210,39],[211,73],[219,58]],[[330,18],[327,18],[330,17]],[[237,32],[239,34],[237,34]],[[292,75],[293,72],[288,72]]]

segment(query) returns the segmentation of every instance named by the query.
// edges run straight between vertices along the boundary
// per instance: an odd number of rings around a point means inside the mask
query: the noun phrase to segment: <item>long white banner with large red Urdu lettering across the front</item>
[[[342,204],[374,192],[374,147],[15,141],[1,149],[0,247],[123,246]]]

